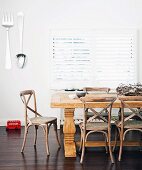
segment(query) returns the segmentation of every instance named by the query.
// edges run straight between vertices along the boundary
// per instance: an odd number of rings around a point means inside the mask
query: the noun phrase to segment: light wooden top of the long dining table
[[[71,93],[72,94],[72,93]],[[116,97],[116,101],[113,103],[113,108],[120,108],[121,102],[118,99],[117,94],[110,93],[110,94],[87,94],[89,97]],[[105,102],[97,102],[95,103],[96,108],[105,107],[107,103]],[[132,107],[142,107],[142,101],[129,101],[129,105]],[[69,93],[55,93],[52,95],[51,98],[51,108],[83,108],[83,104],[79,98],[71,99],[69,97]]]

